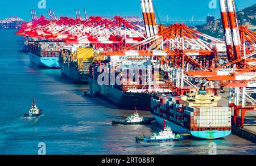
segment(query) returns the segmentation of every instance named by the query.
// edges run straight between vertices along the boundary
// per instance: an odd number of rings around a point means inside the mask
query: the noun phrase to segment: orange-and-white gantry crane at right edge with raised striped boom
[[[229,62],[209,71],[192,71],[188,75],[204,75],[209,81],[218,81],[229,87],[229,107],[234,112],[233,124],[243,127],[245,112],[256,109],[256,33],[238,26],[234,0],[220,0],[222,25],[225,32]],[[241,112],[241,116],[240,116]]]

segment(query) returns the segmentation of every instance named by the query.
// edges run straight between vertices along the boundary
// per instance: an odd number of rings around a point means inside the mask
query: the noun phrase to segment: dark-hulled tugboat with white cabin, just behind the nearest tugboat
[[[154,121],[155,118],[143,118],[139,117],[139,114],[137,112],[137,108],[135,107],[134,114],[131,114],[131,116],[127,117],[123,120],[117,120],[112,121],[113,125],[138,125],[138,124],[150,124],[151,121]]]

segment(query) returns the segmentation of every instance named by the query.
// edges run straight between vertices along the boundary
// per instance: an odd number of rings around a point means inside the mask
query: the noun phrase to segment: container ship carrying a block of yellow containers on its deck
[[[59,58],[61,74],[75,83],[87,84],[89,67],[94,59],[92,47],[65,46]]]

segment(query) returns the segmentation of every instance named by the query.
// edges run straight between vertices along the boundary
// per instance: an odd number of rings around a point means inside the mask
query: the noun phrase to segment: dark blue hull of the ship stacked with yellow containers
[[[75,83],[88,84],[88,76],[81,76],[78,74],[77,70],[73,67],[69,67],[65,63],[59,61],[61,74]]]

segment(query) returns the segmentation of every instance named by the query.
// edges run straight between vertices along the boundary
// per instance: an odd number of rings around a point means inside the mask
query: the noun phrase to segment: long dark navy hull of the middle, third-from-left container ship
[[[140,110],[150,110],[150,101],[151,94],[148,93],[127,93],[113,86],[100,86],[96,80],[89,78],[90,82],[94,87],[94,90],[98,95],[104,99],[111,101],[114,104],[117,104],[123,109],[137,109]]]

